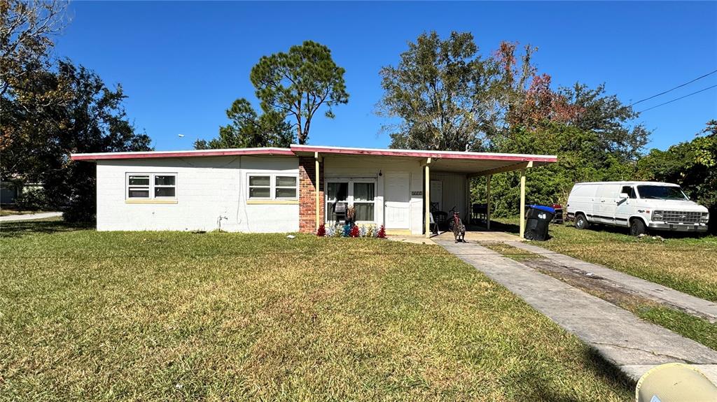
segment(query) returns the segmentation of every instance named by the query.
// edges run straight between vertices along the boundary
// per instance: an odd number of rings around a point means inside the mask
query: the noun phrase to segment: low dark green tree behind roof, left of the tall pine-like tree
[[[206,141],[198,139],[195,149],[289,147],[293,139],[291,124],[273,110],[257,115],[247,99],[237,99],[227,109],[232,121],[219,127],[219,137]]]

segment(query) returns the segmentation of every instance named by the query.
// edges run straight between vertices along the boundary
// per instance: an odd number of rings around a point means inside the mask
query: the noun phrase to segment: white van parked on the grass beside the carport
[[[652,230],[706,232],[707,208],[690,201],[680,186],[660,182],[578,183],[568,197],[568,219],[630,227],[631,235]]]

